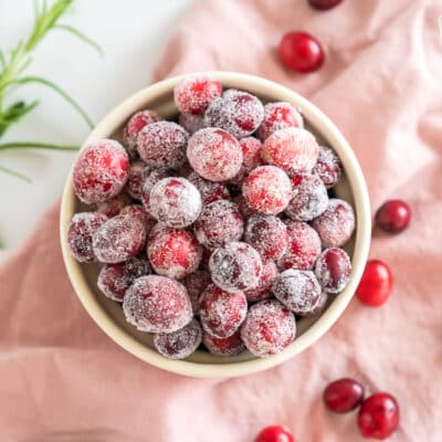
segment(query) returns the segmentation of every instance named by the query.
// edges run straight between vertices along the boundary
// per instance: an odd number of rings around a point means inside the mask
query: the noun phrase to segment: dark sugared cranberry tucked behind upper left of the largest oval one
[[[99,271],[97,286],[110,299],[122,302],[133,282],[149,273],[146,257],[135,256],[124,263],[105,264]]]

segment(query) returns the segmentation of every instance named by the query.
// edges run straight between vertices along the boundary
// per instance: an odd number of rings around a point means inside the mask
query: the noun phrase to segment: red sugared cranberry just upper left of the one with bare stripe
[[[320,239],[306,222],[286,220],[288,246],[277,261],[282,270],[311,270],[320,254]]]

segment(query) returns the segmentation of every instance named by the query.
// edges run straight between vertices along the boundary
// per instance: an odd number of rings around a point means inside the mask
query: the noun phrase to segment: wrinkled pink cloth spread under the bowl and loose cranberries
[[[439,4],[438,4],[439,3]],[[371,256],[396,278],[390,301],[354,299],[311,349],[266,372],[199,380],[150,367],[110,341],[80,305],[57,238],[59,208],[0,269],[2,441],[248,442],[271,423],[302,442],[361,441],[356,415],[334,415],[325,385],[350,376],[401,406],[391,441],[442,440],[442,36],[440,1],[200,0],[178,27],[156,78],[202,70],[259,74],[307,96],[343,130],[372,208],[399,197],[409,230],[376,234]],[[327,50],[314,74],[286,72],[281,34],[306,30]]]

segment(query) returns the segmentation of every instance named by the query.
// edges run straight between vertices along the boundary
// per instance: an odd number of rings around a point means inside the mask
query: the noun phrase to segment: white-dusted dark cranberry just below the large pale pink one
[[[293,193],[285,213],[295,221],[311,221],[327,209],[328,194],[316,175],[292,177]]]

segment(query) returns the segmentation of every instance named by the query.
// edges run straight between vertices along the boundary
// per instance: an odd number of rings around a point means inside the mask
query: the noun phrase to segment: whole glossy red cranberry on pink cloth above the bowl
[[[280,42],[280,57],[292,71],[308,73],[324,63],[324,50],[319,41],[306,32],[288,32]]]

